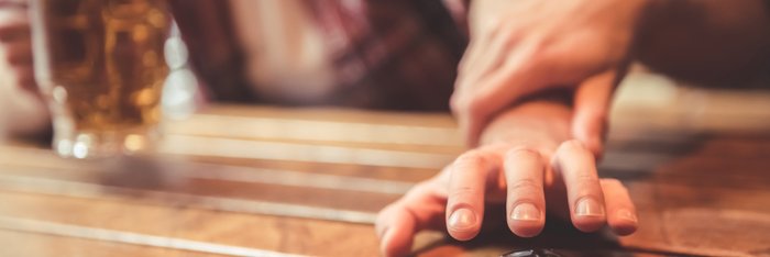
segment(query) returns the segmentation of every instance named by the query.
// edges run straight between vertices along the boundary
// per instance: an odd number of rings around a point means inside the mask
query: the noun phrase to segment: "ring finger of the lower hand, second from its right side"
[[[594,232],[604,226],[604,193],[591,152],[579,141],[568,141],[557,149],[552,167],[564,180],[572,224]]]

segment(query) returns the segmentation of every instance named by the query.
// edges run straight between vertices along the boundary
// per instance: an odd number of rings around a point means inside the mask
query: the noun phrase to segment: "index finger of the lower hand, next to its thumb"
[[[459,241],[475,237],[484,216],[484,194],[488,158],[481,150],[460,156],[450,167],[447,199],[447,231]]]

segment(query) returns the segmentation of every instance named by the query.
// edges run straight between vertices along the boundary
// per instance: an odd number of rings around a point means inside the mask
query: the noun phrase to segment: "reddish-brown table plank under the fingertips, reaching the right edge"
[[[564,221],[549,217],[547,228],[534,238],[517,237],[502,223],[487,224],[490,227],[471,242],[430,235],[416,250],[426,256],[492,256],[516,248],[625,249],[641,256],[770,254],[767,247],[770,190],[692,188],[645,181],[628,186],[640,221],[639,231],[631,236],[616,237],[606,230],[584,234]],[[491,212],[499,215],[487,216],[487,222],[504,221],[502,210]]]

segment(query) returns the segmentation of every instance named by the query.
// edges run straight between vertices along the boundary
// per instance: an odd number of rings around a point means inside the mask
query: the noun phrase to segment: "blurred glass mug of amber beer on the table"
[[[35,79],[53,147],[92,158],[152,150],[160,139],[164,0],[31,0]]]

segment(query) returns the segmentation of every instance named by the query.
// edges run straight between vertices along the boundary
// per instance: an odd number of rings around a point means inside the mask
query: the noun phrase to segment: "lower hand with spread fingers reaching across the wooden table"
[[[484,211],[505,204],[505,222],[521,237],[536,236],[546,211],[594,232],[605,224],[619,235],[637,227],[626,188],[600,179],[594,155],[570,139],[572,115],[562,103],[534,101],[501,114],[471,149],[436,177],[414,187],[381,211],[382,252],[402,256],[422,230],[447,230],[460,241],[475,237]]]

